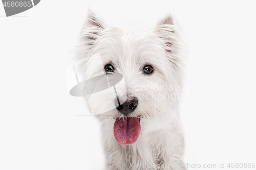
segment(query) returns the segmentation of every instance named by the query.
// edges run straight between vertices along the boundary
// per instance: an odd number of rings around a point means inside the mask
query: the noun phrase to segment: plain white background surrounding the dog
[[[256,163],[254,1],[43,0],[8,18],[0,5],[0,169],[103,167],[98,123],[77,116],[88,112],[65,76],[88,8],[140,31],[175,10],[188,48],[185,161]]]

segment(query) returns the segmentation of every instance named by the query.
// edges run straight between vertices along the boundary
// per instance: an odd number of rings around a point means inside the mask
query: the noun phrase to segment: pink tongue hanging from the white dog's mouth
[[[140,135],[140,123],[136,117],[117,119],[114,124],[114,136],[121,144],[133,144]]]

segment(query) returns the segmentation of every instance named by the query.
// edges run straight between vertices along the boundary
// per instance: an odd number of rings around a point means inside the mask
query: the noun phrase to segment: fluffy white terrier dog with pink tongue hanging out
[[[84,80],[119,73],[123,82],[114,86],[116,93],[105,89],[85,98],[101,124],[105,169],[186,169],[178,33],[172,14],[163,17],[153,32],[130,35],[106,28],[89,11],[74,59],[76,70]]]

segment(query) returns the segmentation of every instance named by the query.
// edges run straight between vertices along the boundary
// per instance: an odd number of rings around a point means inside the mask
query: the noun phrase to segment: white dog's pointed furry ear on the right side
[[[174,12],[165,15],[155,29],[155,35],[161,39],[168,60],[176,70],[181,69],[182,59],[179,55],[181,48],[178,23]]]

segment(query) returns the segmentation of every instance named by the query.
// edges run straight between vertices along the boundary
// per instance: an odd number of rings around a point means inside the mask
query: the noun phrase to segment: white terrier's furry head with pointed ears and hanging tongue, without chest
[[[172,116],[169,111],[177,106],[181,73],[172,16],[163,18],[152,33],[129,35],[105,28],[90,12],[81,39],[76,60],[85,80],[122,75],[122,81],[112,88],[86,96],[91,112],[114,127],[119,143],[132,144],[141,130],[150,131],[152,118]]]

